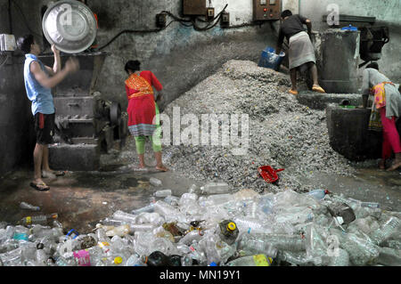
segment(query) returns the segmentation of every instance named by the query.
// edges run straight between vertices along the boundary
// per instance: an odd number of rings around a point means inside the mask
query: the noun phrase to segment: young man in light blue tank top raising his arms
[[[60,51],[52,45],[54,53],[53,68],[45,66],[37,56],[41,47],[32,35],[20,37],[18,47],[25,53],[24,81],[29,101],[32,101],[32,114],[35,117],[37,144],[34,150],[34,181],[30,186],[37,191],[48,191],[50,188],[42,177],[55,177],[63,172],[55,172],[49,166],[48,144],[53,142],[54,104],[52,88],[58,85],[70,73],[79,69],[77,59],[70,58],[64,69],[61,69]]]

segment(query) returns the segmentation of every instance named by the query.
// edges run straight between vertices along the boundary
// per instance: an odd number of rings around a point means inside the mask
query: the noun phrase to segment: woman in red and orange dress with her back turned
[[[140,61],[127,61],[126,71],[129,77],[125,81],[128,100],[128,129],[135,136],[139,167],[144,163],[145,139],[149,137],[156,158],[156,169],[166,172],[168,168],[161,161],[160,117],[156,101],[160,101],[163,86],[151,71],[140,71]],[[159,92],[155,101],[153,88]]]

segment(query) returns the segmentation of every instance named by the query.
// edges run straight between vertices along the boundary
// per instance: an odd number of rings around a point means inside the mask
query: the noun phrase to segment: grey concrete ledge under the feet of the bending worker
[[[339,104],[342,100],[348,100],[350,105],[362,105],[362,95],[358,93],[315,93],[300,92],[297,95],[299,103],[307,105],[313,110],[324,110],[329,103]]]

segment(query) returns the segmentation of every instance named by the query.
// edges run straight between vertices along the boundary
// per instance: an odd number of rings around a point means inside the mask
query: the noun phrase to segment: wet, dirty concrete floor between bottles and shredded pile
[[[155,191],[170,189],[179,197],[192,183],[201,185],[173,171],[135,170],[135,149],[123,149],[108,156],[99,171],[67,172],[57,179],[44,179],[51,187],[50,191],[35,191],[29,187],[33,175],[31,168],[21,168],[4,176],[0,179],[0,221],[16,224],[27,215],[58,213],[64,229],[87,233],[117,210],[130,212],[148,205]],[[148,156],[147,163],[151,165],[154,161],[151,154]],[[162,181],[162,187],[155,188],[149,183],[152,176]],[[384,210],[401,211],[400,171],[385,172],[372,166],[358,169],[355,177],[315,173],[303,183],[343,193],[353,199],[379,202]],[[41,210],[20,209],[21,201],[41,207]]]

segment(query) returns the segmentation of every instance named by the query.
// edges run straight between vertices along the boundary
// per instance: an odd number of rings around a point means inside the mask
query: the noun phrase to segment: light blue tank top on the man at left
[[[30,53],[25,55],[25,89],[27,90],[29,101],[32,101],[32,114],[34,116],[37,114],[37,112],[43,114],[52,114],[54,113],[52,90],[40,85],[32,72],[30,72],[30,63],[33,61],[37,61],[37,63],[40,65],[40,68],[44,70],[45,74],[48,76],[45,65],[37,59],[37,56]]]

